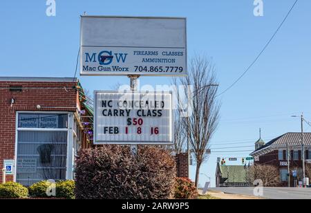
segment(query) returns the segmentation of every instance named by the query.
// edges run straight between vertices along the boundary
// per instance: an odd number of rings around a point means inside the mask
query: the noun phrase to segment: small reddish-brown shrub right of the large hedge
[[[195,199],[198,198],[198,189],[189,178],[176,178],[175,198]]]

